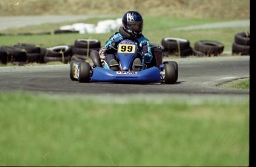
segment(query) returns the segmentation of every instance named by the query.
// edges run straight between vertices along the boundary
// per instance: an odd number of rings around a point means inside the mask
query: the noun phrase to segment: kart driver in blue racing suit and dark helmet
[[[142,35],[143,30],[143,18],[137,11],[128,11],[122,17],[122,27],[119,27],[119,31],[112,35],[106,42],[105,46],[99,50],[99,55],[102,61],[104,61],[105,68],[109,68],[113,71],[119,70],[118,60],[114,55],[113,47],[117,47],[120,41],[124,37],[137,38],[140,42],[142,52],[140,56],[135,58],[133,63],[133,70],[140,71],[142,64],[148,64],[151,62],[153,55],[151,52],[151,46],[147,38]]]

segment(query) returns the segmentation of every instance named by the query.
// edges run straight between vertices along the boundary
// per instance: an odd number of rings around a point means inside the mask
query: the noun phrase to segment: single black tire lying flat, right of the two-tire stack
[[[202,40],[194,43],[194,50],[203,52],[205,55],[220,55],[224,50],[224,44],[218,41]]]

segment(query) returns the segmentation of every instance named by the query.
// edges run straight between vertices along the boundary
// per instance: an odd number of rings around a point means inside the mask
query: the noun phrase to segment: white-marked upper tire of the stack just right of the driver
[[[161,44],[165,51],[176,52],[190,47],[190,41],[183,38],[163,38]]]

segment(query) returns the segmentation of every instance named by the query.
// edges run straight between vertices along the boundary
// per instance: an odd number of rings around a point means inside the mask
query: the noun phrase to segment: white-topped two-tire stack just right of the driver
[[[193,55],[190,41],[187,39],[166,37],[162,39],[161,45],[165,55],[179,55],[181,57]]]

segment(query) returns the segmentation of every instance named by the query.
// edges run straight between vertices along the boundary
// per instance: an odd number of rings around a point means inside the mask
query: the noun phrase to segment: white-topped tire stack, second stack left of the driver
[[[59,45],[56,47],[49,47],[44,50],[44,62],[60,61],[63,64],[68,64],[72,55],[71,47],[68,45]]]

